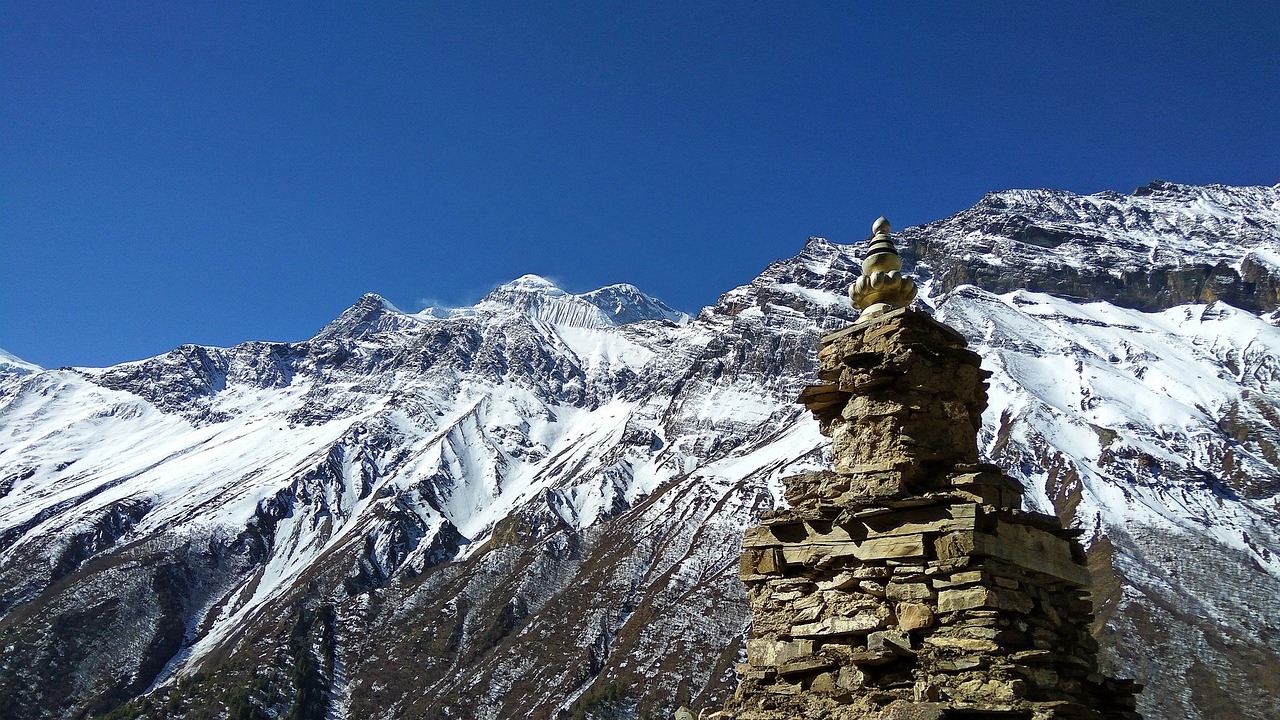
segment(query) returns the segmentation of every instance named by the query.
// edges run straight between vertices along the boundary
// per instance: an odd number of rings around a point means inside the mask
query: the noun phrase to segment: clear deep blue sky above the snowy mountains
[[[524,273],[696,313],[881,214],[1277,160],[1274,0],[3,0],[0,347],[300,341]]]

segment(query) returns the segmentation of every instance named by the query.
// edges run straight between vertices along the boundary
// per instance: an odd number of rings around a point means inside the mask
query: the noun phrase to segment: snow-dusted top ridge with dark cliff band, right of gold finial
[[[1280,186],[1153,182],[1133,195],[988,193],[972,209],[901,233],[937,283],[1033,290],[1161,310],[1225,300],[1280,306]]]

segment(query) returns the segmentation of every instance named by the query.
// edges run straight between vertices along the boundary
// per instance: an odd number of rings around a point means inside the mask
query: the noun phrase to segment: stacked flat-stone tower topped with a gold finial
[[[790,509],[746,532],[748,661],[709,717],[1138,719],[1139,687],[1098,671],[1080,530],[978,461],[989,373],[909,307],[888,222],[872,229],[861,315],[799,398],[835,469],[785,480]]]

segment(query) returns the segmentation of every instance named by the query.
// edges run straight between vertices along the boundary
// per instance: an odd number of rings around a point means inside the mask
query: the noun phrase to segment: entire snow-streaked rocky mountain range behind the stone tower
[[[986,455],[1085,530],[1147,716],[1280,714],[1280,186],[998,192],[900,242],[995,373]],[[0,375],[0,707],[716,705],[741,533],[827,454],[794,400],[861,250],[812,238],[692,319],[525,275],[466,309],[367,295],[298,343]]]

